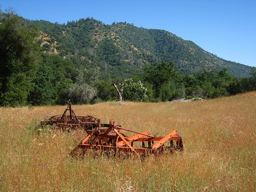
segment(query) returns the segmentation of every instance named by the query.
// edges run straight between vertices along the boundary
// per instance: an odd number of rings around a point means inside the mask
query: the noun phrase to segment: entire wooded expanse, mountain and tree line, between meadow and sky
[[[256,89],[256,69],[164,30],[93,18],[66,24],[1,12],[0,105],[215,98]],[[114,83],[114,84],[113,84]]]

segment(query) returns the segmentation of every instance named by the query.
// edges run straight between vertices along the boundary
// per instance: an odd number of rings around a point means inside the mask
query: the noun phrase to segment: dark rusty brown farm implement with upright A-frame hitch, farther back
[[[55,115],[45,118],[40,122],[40,125],[56,125],[62,129],[77,129],[77,128],[95,128],[96,123],[100,119],[93,116],[76,116],[74,110],[71,108],[71,102],[68,100],[68,107],[62,115]],[[69,111],[69,114],[67,112]]]

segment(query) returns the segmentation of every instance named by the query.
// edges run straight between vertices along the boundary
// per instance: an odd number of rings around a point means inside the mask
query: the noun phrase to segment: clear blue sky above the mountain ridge
[[[30,20],[62,24],[93,17],[162,29],[226,60],[256,66],[256,0],[0,0],[0,5]]]

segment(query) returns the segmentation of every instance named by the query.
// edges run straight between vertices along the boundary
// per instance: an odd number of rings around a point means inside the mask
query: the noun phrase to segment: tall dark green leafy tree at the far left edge
[[[0,104],[24,105],[40,59],[39,32],[23,25],[13,9],[0,14]]]

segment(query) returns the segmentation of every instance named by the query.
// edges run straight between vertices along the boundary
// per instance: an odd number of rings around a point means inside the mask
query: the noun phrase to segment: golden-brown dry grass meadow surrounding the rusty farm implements
[[[0,108],[0,191],[256,191],[256,92],[176,103],[72,105],[136,131],[165,136],[176,129],[184,152],[140,158],[68,157],[85,138],[40,120],[66,106]]]

